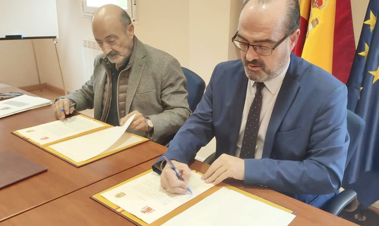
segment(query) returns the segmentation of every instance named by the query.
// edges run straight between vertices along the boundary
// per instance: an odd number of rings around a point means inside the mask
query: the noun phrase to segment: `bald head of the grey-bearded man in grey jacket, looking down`
[[[104,54],[116,68],[130,57],[134,43],[134,26],[119,6],[104,5],[92,17],[92,33]]]

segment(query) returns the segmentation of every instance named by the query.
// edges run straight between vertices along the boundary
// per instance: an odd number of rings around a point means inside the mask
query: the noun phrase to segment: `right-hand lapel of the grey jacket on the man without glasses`
[[[130,71],[128,89],[126,91],[126,114],[129,113],[130,105],[132,104],[146,63],[146,59],[144,59],[144,57],[146,56],[146,50],[143,46],[143,43],[140,42],[136,37],[134,37],[134,43],[135,44],[133,46],[133,51],[135,51],[135,57],[133,62],[131,62],[133,66],[131,68],[132,70]]]

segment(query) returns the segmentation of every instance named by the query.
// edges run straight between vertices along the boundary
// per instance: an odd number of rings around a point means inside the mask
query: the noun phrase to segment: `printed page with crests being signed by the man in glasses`
[[[214,186],[205,184],[199,173],[191,173],[188,186],[192,195],[188,191],[182,194],[169,193],[161,187],[160,175],[151,172],[101,196],[150,224]]]

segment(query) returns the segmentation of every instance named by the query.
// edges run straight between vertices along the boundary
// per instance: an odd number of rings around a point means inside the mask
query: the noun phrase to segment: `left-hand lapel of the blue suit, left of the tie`
[[[240,132],[243,107],[246,99],[246,89],[248,79],[243,70],[241,63],[241,70],[236,73],[235,80],[230,84],[234,84],[232,88],[232,95],[230,96],[230,110],[229,110],[229,155],[235,155],[237,147],[238,134]]]

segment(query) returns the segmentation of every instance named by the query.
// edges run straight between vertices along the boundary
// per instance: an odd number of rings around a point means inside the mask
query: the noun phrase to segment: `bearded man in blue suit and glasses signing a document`
[[[216,137],[215,162],[202,176],[267,186],[321,207],[341,186],[349,135],[346,86],[291,54],[299,36],[298,0],[251,0],[233,43],[242,60],[216,66],[196,110],[166,155],[188,181],[188,163]],[[315,47],[316,48],[316,47]],[[185,192],[163,159],[161,186]]]

